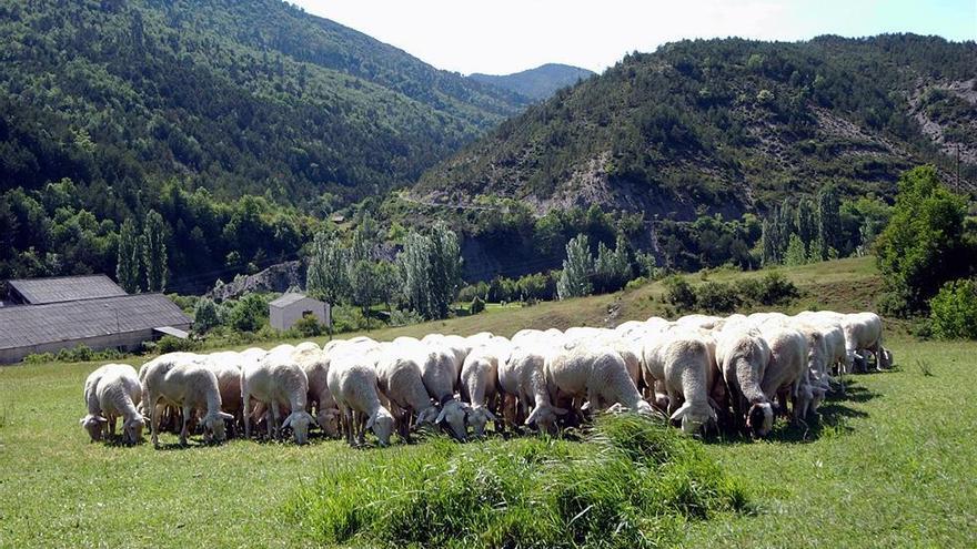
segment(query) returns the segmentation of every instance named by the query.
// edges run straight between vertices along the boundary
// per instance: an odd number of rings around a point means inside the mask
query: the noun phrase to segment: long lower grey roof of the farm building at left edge
[[[0,349],[189,325],[190,318],[162,294],[0,308]]]

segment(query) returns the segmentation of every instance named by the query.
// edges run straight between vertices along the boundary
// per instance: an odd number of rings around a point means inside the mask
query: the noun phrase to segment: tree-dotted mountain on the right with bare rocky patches
[[[826,183],[890,196],[924,162],[974,191],[975,60],[974,42],[911,34],[669,43],[507,120],[429,170],[413,199],[728,220]]]

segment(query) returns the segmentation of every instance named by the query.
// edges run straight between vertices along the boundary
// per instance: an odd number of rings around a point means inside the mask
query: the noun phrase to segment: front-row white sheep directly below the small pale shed
[[[268,425],[269,436],[281,434],[281,429],[292,428],[295,444],[309,441],[309,426],[315,425],[306,410],[309,379],[305,372],[293,357],[295,347],[279,346],[270,350],[256,364],[249,364],[241,370],[241,399],[244,406],[244,436],[251,438],[251,399],[264,403],[269,407],[271,421]],[[279,427],[281,409],[286,407],[288,417]],[[265,414],[268,418],[268,414]]]

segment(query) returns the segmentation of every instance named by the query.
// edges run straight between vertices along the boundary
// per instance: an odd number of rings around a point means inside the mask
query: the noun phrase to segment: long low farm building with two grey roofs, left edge
[[[0,364],[85,345],[133,350],[163,334],[187,337],[190,318],[162,294],[129,295],[104,275],[8,281]]]

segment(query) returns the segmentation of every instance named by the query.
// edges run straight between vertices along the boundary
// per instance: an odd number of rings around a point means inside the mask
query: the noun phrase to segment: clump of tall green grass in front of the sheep
[[[745,504],[698,443],[622,415],[582,443],[436,438],[377,451],[302,487],[285,512],[324,545],[638,548]]]

